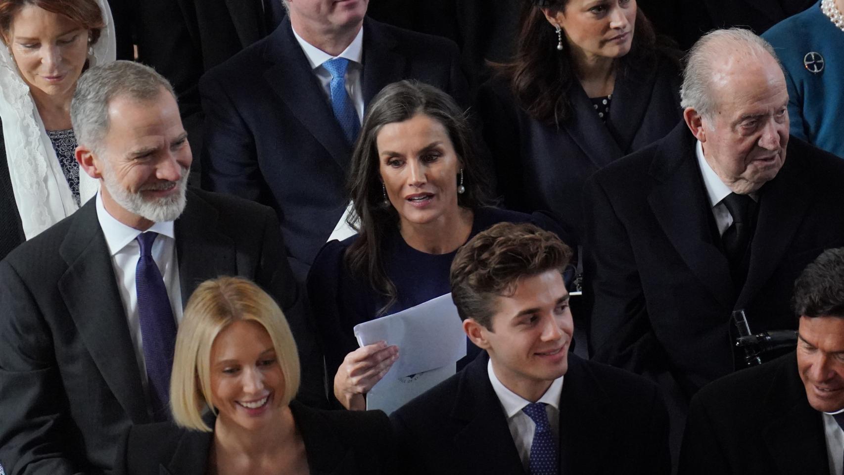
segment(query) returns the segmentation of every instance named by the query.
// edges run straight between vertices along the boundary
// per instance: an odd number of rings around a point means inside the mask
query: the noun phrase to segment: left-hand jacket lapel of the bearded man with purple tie
[[[68,270],[59,279],[58,290],[85,348],[132,422],[149,422],[138,359],[106,236],[97,220],[96,200],[90,200],[73,215],[59,254]]]

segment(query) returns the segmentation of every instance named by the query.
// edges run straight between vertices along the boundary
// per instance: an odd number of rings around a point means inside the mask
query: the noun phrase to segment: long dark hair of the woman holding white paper
[[[352,154],[347,187],[357,216],[349,217],[349,225],[358,231],[358,238],[344,255],[352,275],[361,276],[372,289],[387,298],[387,305],[379,314],[396,301],[396,286],[387,277],[381,262],[381,243],[389,229],[398,226],[399,216],[392,204],[383,200],[376,139],[381,127],[407,121],[419,114],[431,117],[446,128],[454,151],[463,163],[466,192],[457,195],[457,205],[475,209],[490,202],[489,181],[479,164],[472,127],[466,112],[452,97],[434,86],[416,81],[400,81],[381,89],[366,111]]]

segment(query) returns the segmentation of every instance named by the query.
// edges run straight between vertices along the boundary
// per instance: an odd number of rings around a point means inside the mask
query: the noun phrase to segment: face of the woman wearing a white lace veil
[[[27,5],[14,15],[7,43],[36,98],[69,99],[88,59],[89,31],[58,13]]]

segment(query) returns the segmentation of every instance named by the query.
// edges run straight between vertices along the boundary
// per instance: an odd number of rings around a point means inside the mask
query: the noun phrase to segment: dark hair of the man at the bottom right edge
[[[844,318],[844,247],[827,249],[794,282],[792,308],[799,316]]]

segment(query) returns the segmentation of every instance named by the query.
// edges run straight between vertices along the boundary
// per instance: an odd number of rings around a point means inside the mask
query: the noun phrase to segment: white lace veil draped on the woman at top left
[[[106,27],[89,51],[91,67],[116,58],[114,20],[106,0],[97,0]],[[78,209],[61,165],[35,108],[29,86],[18,73],[6,48],[0,47],[0,118],[6,145],[14,200],[26,239],[66,218]],[[79,176],[81,202],[93,197],[99,181],[84,173]]]

